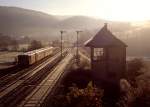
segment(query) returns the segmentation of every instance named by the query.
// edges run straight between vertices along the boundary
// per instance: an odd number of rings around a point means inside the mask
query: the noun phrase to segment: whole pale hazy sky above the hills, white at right
[[[0,5],[56,15],[86,15],[117,21],[150,19],[150,0],[0,0]]]

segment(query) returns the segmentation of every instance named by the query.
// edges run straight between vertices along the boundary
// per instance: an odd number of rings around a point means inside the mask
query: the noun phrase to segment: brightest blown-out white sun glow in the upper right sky
[[[150,0],[95,0],[90,4],[92,16],[116,21],[150,19]]]

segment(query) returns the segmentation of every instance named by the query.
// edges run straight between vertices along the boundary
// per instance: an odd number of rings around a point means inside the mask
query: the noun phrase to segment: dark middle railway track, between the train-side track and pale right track
[[[66,53],[66,52],[64,52]],[[37,85],[51,72],[51,69],[60,61],[60,54],[52,57],[49,64],[36,72],[32,72],[29,75],[25,75],[17,81],[6,88],[0,94],[0,107],[14,107],[16,106],[23,98],[34,90]],[[7,90],[8,89],[8,90]],[[10,91],[9,91],[10,90]]]

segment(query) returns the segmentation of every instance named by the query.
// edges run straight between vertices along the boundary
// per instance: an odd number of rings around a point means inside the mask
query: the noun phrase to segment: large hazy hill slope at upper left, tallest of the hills
[[[0,7],[0,32],[15,36],[39,36],[54,28],[59,20],[52,15],[17,7]],[[45,34],[45,36],[47,33]]]

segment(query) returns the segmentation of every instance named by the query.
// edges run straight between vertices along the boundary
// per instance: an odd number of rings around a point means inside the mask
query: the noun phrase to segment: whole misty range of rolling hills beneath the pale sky
[[[121,30],[130,28],[128,23],[110,22],[86,16],[54,16],[39,11],[18,7],[0,6],[0,33],[22,36],[28,35],[41,39],[55,38],[59,30],[93,30],[99,29],[103,23],[109,22]],[[125,26],[125,27],[124,27]]]

